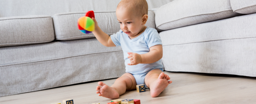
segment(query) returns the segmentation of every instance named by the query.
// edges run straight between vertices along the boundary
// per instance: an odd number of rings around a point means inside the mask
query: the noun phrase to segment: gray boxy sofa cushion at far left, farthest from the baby
[[[50,16],[0,18],[0,47],[38,44],[53,40],[54,27]]]

